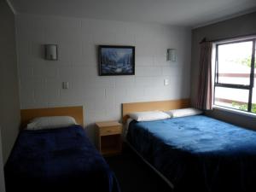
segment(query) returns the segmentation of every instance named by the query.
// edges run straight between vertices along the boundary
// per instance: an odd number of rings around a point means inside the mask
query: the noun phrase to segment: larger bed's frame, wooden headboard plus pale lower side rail
[[[143,111],[168,111],[177,108],[189,108],[190,99],[180,99],[180,100],[169,100],[169,101],[159,101],[159,102],[131,102],[122,104],[122,117],[123,123],[129,118],[129,113],[132,112],[143,112]],[[158,174],[172,189],[174,189],[174,184],[169,181],[161,172],[159,172],[154,166],[152,166],[148,160],[143,158],[136,148],[133,148],[131,143],[129,143],[125,138],[125,143],[154,171]]]

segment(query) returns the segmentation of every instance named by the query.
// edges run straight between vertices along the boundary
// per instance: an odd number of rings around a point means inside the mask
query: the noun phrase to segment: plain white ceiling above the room
[[[202,26],[256,11],[255,0],[9,0],[17,13]]]

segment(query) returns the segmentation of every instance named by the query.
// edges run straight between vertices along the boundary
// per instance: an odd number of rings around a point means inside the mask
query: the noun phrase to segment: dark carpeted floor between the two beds
[[[131,148],[126,147],[122,154],[105,159],[119,180],[121,192],[172,192],[167,183]]]

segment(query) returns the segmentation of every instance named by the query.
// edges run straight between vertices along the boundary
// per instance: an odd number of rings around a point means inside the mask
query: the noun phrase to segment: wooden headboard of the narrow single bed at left
[[[23,128],[26,124],[36,117],[45,116],[71,116],[76,119],[79,125],[84,125],[83,106],[66,107],[66,108],[32,108],[20,110],[20,127]]]

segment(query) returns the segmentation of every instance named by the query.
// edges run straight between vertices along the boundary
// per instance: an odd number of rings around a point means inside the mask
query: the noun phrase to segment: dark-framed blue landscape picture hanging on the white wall
[[[99,45],[99,75],[134,75],[135,47]]]

